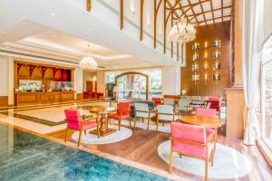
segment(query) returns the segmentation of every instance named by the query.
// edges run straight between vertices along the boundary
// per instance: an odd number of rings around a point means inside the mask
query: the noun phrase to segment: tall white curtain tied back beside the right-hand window
[[[263,32],[263,0],[244,0],[244,2],[243,84],[247,105],[244,144],[255,145],[256,138],[259,137],[256,108],[259,97],[259,50]]]

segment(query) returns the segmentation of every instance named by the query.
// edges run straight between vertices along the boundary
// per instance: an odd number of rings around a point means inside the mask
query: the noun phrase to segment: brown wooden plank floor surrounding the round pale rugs
[[[68,140],[76,144],[71,139],[73,131],[70,131]],[[53,138],[64,139],[65,130],[54,132],[49,134]],[[126,158],[132,161],[137,161],[141,164],[148,165],[150,167],[160,168],[162,170],[168,170],[168,165],[162,161],[157,153],[157,148],[161,142],[168,140],[170,137],[169,133],[157,132],[146,129],[134,129],[131,138],[125,139],[121,142],[106,144],[106,145],[84,145],[85,148],[98,149],[103,153],[111,154],[113,156]],[[258,151],[257,147],[244,146],[242,140],[236,138],[226,138],[219,136],[219,143],[226,145],[231,148],[235,148],[243,155],[248,157],[251,161],[253,169],[248,176],[241,177],[236,180],[272,180],[271,168],[267,165],[267,162]],[[204,166],[204,164],[203,164]],[[224,168],[222,168],[224,169]],[[173,168],[173,172],[182,176],[189,176],[195,180],[202,180],[203,177],[190,175],[182,172],[178,169]],[[211,179],[210,179],[211,180]]]

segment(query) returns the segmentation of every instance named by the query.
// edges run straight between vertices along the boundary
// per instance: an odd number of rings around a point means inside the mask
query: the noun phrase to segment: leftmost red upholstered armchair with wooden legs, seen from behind
[[[79,110],[64,110],[67,128],[65,133],[65,142],[67,140],[68,129],[78,130],[80,131],[79,139],[77,145],[80,146],[82,139],[82,132],[84,131],[86,134],[87,129],[96,128],[99,135],[99,125],[97,124],[98,118],[84,119],[83,116],[80,115]]]

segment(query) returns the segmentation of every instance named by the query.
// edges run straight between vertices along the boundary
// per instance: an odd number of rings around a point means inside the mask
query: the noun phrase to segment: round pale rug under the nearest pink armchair
[[[169,164],[170,161],[170,141],[165,141],[158,147],[160,158]],[[191,157],[180,157],[179,154],[173,154],[173,167],[184,172],[204,176],[204,160]],[[217,150],[214,157],[214,166],[209,166],[209,177],[215,179],[234,179],[248,175],[251,170],[251,164],[248,158],[233,148],[217,144]]]

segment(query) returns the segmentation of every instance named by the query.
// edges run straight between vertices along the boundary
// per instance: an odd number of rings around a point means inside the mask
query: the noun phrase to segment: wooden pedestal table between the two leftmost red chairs
[[[100,136],[104,137],[104,136],[110,135],[116,131],[115,129],[108,128],[108,123],[106,120],[106,115],[109,113],[115,112],[116,111],[115,108],[106,107],[106,106],[93,106],[92,108],[89,109],[89,111],[92,113],[96,113],[96,114],[101,115]],[[91,133],[95,134],[95,135],[98,134],[97,130],[92,130]]]

